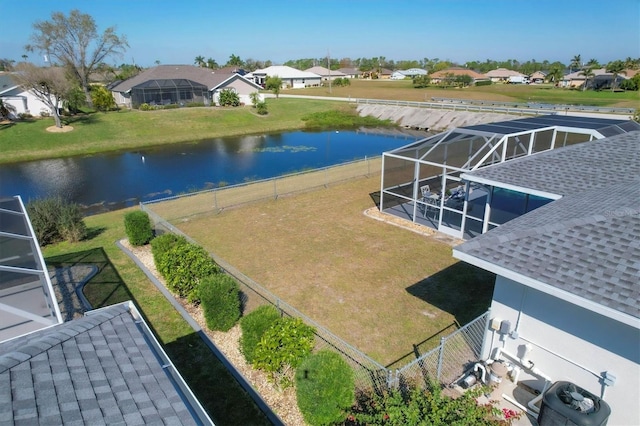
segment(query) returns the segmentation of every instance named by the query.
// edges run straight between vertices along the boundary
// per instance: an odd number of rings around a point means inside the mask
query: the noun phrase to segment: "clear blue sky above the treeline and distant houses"
[[[112,65],[198,55],[223,65],[232,54],[274,64],[327,54],[461,64],[640,57],[640,0],[0,0],[0,58],[20,61],[33,23],[72,9],[127,36]]]

